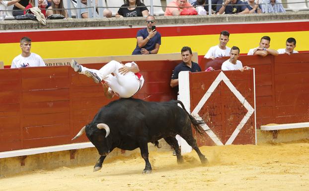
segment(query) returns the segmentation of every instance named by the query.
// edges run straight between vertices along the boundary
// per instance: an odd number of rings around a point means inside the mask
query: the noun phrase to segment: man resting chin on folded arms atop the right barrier
[[[259,55],[262,57],[266,57],[268,54],[278,56],[278,52],[276,50],[270,49],[270,37],[263,36],[260,41],[260,46],[254,49],[250,49],[248,55]]]

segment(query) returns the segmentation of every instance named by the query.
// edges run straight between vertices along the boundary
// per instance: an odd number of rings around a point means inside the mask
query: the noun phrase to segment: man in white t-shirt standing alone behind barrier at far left
[[[11,68],[46,66],[43,59],[39,55],[30,53],[31,39],[28,37],[22,37],[20,39],[19,46],[21,48],[21,54],[13,59]]]

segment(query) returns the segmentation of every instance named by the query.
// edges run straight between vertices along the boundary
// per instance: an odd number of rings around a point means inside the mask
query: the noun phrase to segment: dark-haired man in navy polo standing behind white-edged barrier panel
[[[192,62],[192,51],[190,47],[182,47],[181,49],[181,57],[182,63],[176,65],[171,80],[170,86],[176,87],[178,90],[178,74],[180,71],[191,71],[197,72],[201,71],[199,64]]]

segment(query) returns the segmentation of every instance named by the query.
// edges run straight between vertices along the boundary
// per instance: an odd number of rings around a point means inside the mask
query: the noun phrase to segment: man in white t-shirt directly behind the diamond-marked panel
[[[240,61],[238,61],[239,57],[239,48],[233,46],[231,49],[231,56],[230,59],[224,62],[221,66],[222,70],[237,70],[239,69],[241,72],[243,72],[244,69],[249,68],[248,66],[243,66]]]

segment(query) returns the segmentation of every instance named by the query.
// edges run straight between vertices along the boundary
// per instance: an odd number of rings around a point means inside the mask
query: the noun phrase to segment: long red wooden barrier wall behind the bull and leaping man
[[[180,62],[138,62],[145,83],[135,97],[174,99],[169,82]],[[87,67],[99,69],[103,65]],[[101,84],[70,66],[0,69],[0,87],[0,152],[71,143],[99,108],[110,102]],[[77,141],[88,139],[82,136]]]

